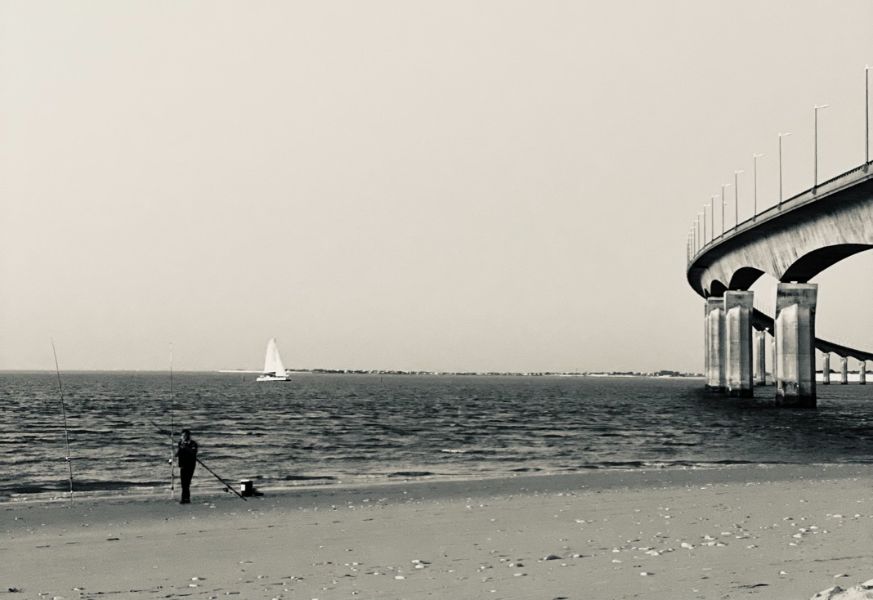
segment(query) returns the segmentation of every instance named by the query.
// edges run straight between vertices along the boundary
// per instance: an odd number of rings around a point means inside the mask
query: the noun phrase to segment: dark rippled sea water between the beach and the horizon
[[[164,492],[171,423],[258,487],[596,468],[873,462],[873,385],[819,408],[713,398],[694,379],[62,374],[75,489]],[[766,388],[764,393],[772,393]],[[162,431],[163,430],[163,431]],[[175,437],[175,436],[174,436]],[[53,373],[0,374],[0,500],[68,489]],[[208,487],[201,470],[198,486]],[[178,483],[177,483],[178,486]]]

